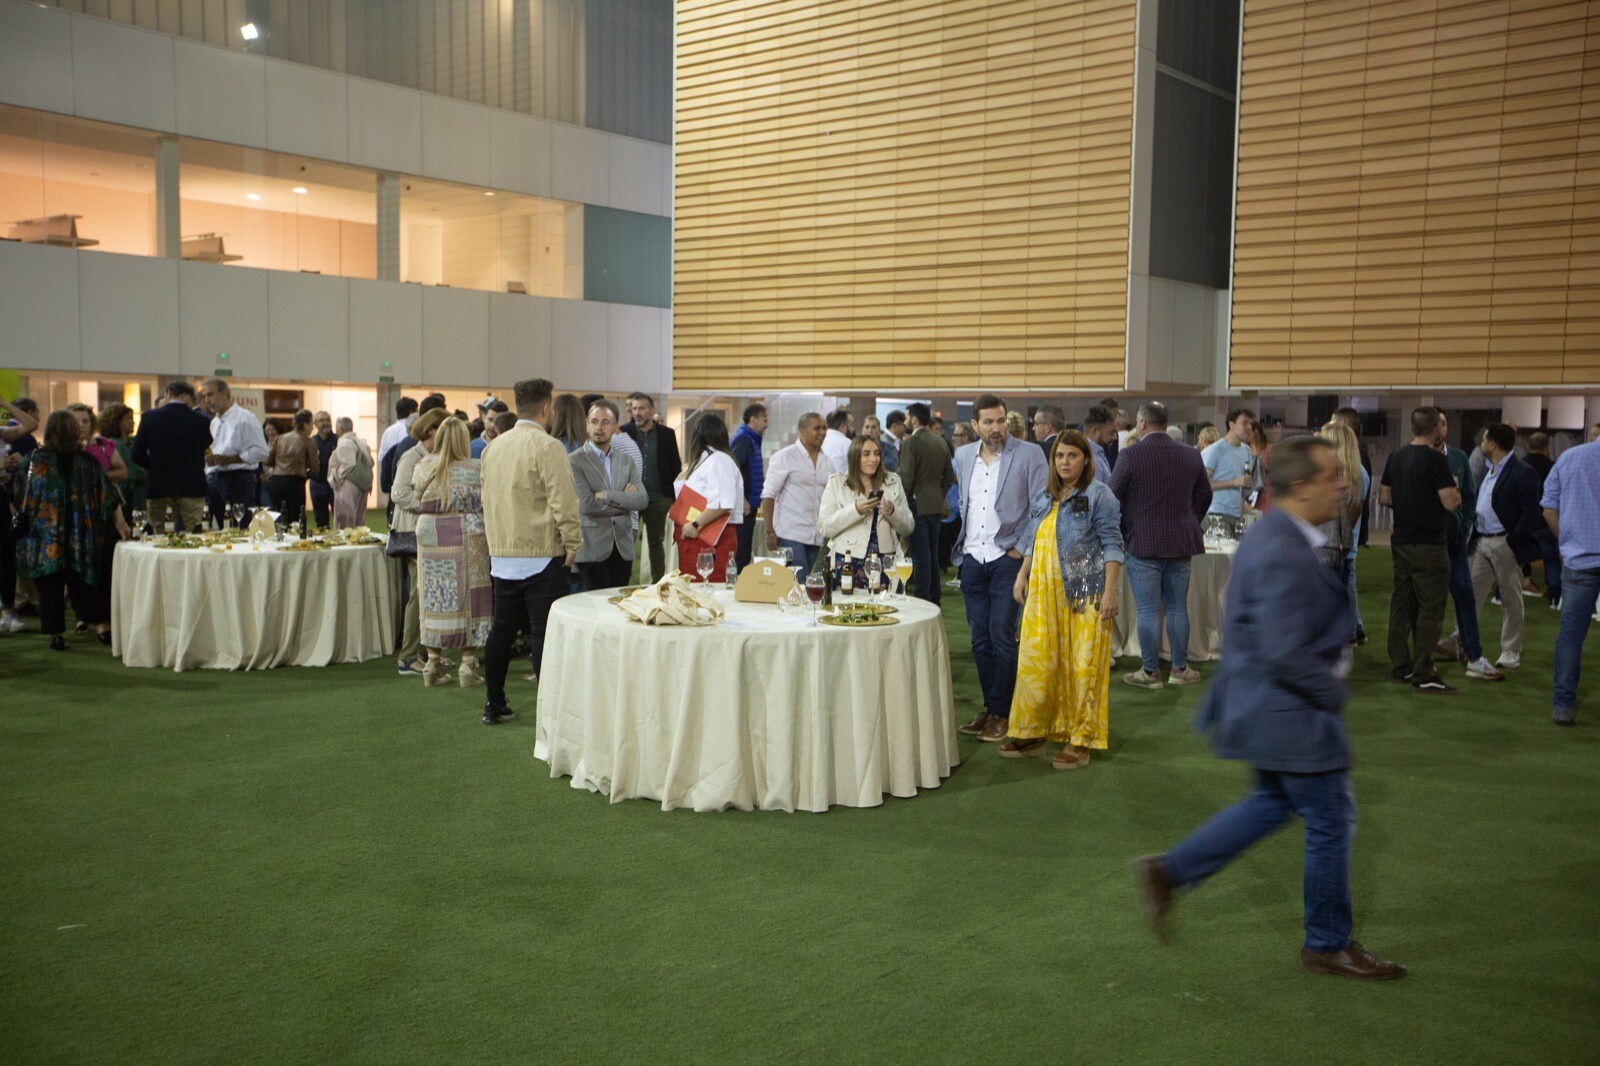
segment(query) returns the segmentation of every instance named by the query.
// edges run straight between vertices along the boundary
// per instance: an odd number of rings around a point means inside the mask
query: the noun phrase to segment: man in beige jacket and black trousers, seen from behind
[[[566,448],[544,431],[554,391],[544,378],[518,381],[517,424],[483,451],[483,528],[494,581],[494,624],[483,650],[485,725],[514,715],[506,706],[506,671],[518,632],[528,634],[539,672],[550,605],[566,592],[584,543]]]

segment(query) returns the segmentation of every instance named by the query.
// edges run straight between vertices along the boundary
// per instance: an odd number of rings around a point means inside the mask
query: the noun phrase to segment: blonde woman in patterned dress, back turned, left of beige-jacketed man
[[[416,519],[416,575],[422,615],[424,685],[445,685],[440,648],[461,648],[461,687],[482,685],[478,648],[490,637],[494,591],[490,544],[483,535],[478,461],[467,423],[446,418],[434,434],[434,453],[411,475],[421,512]]]

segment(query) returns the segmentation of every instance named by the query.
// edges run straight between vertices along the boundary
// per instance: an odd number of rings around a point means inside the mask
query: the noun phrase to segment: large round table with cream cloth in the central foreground
[[[538,746],[550,776],[662,810],[877,807],[960,762],[938,608],[894,626],[806,626],[720,592],[718,626],[645,626],[614,591],[550,608]]]

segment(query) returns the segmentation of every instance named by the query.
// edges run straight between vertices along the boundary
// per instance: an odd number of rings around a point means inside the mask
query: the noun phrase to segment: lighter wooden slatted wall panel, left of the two
[[[680,0],[674,386],[1120,387],[1131,0]]]

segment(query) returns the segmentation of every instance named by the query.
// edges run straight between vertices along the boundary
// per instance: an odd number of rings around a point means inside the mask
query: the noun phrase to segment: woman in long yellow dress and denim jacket
[[[1022,637],[1010,739],[1000,754],[1026,759],[1059,743],[1050,765],[1077,770],[1088,765],[1090,749],[1106,747],[1123,560],[1122,506],[1094,480],[1094,456],[1078,431],[1056,437],[1030,519],[1013,589]]]

